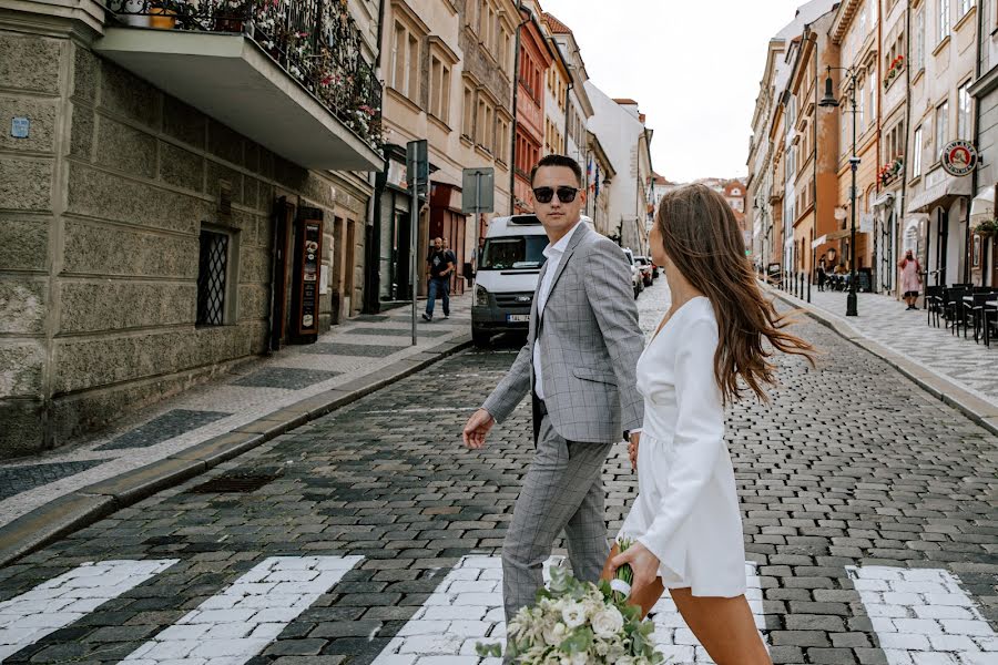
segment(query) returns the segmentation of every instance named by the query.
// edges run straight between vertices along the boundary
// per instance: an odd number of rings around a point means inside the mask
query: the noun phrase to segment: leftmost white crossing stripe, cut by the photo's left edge
[[[88,562],[0,603],[0,661],[83,618],[176,562]]]

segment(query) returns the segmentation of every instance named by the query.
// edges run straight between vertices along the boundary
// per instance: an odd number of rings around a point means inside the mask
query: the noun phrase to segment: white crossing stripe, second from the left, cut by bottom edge
[[[339,582],[363,556],[272,556],[254,566],[122,663],[240,665]]]

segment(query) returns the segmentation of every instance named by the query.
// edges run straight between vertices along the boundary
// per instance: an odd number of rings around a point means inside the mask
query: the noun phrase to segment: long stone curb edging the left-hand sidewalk
[[[441,342],[361,377],[273,411],[185,450],[121,475],[70,492],[0,528],[0,566],[243,454],[471,347],[471,336]],[[998,417],[998,412],[996,412]]]

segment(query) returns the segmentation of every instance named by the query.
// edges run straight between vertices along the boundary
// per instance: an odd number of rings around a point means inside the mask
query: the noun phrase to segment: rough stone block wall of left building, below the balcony
[[[353,191],[363,181],[288,163],[70,33],[0,24],[7,458],[62,444],[264,352],[275,200],[324,209],[328,245],[334,214],[363,221],[369,196]],[[31,120],[28,139],[10,136],[16,116]],[[223,326],[195,326],[202,225],[231,235],[235,304]],[[327,294],[326,329],[330,306]]]

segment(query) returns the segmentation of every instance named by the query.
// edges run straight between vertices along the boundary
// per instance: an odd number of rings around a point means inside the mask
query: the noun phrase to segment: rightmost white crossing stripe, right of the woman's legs
[[[948,571],[846,571],[888,665],[998,665],[998,635]]]

